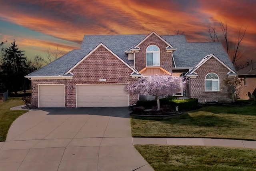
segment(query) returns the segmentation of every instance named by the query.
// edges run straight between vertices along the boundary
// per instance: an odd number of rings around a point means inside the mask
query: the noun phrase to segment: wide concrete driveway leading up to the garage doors
[[[152,171],[132,146],[127,107],[44,108],[0,142],[1,171]]]

